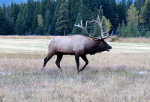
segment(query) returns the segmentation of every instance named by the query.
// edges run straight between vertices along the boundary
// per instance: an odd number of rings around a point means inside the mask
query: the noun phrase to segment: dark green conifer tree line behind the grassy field
[[[105,18],[104,29],[120,37],[150,37],[150,0],[28,0],[0,7],[0,35],[84,34],[81,20]],[[89,24],[98,36],[98,27]]]

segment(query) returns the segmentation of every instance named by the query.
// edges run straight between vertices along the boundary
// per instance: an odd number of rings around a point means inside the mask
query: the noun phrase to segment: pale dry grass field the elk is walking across
[[[0,102],[150,101],[149,42],[108,42],[112,51],[88,55],[77,74],[74,56],[64,56],[62,73],[55,56],[41,71],[48,39],[0,37]]]

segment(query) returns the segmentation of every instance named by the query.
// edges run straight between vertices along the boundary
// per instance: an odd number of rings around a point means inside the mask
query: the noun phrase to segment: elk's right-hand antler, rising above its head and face
[[[100,31],[101,31],[100,38],[101,39],[106,39],[110,36],[109,36],[108,32],[103,31],[103,21],[104,21],[104,17],[102,18],[102,20],[100,20],[100,17],[98,16],[98,20],[92,20],[92,21],[90,21],[90,23],[93,23],[93,22],[97,23],[99,28],[100,28]],[[107,35],[104,36],[105,34],[107,34]]]

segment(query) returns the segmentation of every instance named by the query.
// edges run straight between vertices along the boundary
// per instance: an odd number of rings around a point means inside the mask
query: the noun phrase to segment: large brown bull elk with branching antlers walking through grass
[[[87,54],[93,55],[96,53],[100,53],[103,51],[109,51],[112,49],[110,45],[108,45],[104,40],[111,35],[108,32],[103,32],[102,24],[104,19],[102,20],[92,20],[86,21],[85,26],[81,21],[81,24],[75,24],[76,27],[81,28],[85,31],[88,36],[83,35],[71,35],[71,36],[56,36],[53,38],[48,45],[48,54],[44,59],[43,68],[46,66],[46,63],[54,56],[57,55],[57,59],[55,64],[62,71],[60,62],[62,60],[63,55],[75,55],[75,61],[77,65],[77,72],[81,72],[88,65],[89,61],[86,57]],[[96,23],[100,29],[100,37],[92,37],[87,31],[88,23]],[[104,36],[106,35],[106,36]],[[82,58],[85,61],[85,65],[79,69],[79,58]]]

